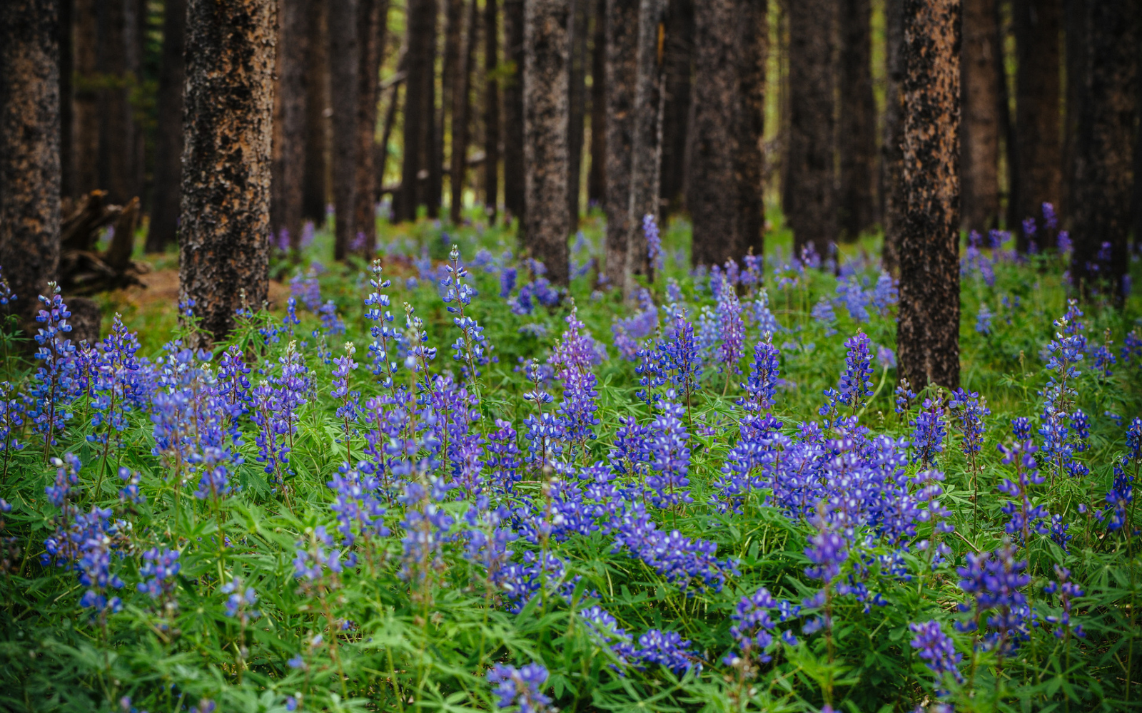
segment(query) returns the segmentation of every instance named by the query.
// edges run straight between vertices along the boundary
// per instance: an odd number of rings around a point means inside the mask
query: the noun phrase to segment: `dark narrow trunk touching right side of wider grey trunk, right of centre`
[[[753,252],[764,254],[765,201],[765,66],[769,59],[767,0],[738,0],[738,102],[735,106],[738,147],[734,152],[734,178],[738,181],[738,258]],[[871,96],[869,97],[871,98]],[[874,127],[875,127],[875,113]],[[874,140],[875,144],[875,140]],[[871,183],[871,165],[868,181]]]

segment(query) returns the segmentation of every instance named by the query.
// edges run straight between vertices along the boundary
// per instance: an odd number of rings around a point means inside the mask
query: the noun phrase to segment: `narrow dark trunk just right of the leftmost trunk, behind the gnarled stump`
[[[75,0],[75,194],[73,197],[100,187],[98,34],[96,0]]]

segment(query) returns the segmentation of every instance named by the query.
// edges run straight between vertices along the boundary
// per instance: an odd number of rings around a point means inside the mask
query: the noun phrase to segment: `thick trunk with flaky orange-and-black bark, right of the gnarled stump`
[[[191,0],[179,281],[203,342],[224,339],[270,282],[274,0]]]

